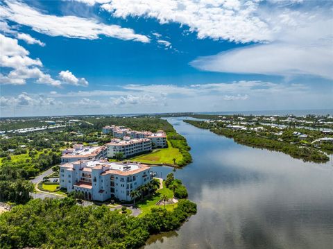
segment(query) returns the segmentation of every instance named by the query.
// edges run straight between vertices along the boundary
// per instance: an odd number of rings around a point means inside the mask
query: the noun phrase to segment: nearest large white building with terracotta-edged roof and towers
[[[130,192],[152,179],[153,173],[144,164],[88,160],[60,165],[60,188],[80,191],[87,200],[130,201]]]

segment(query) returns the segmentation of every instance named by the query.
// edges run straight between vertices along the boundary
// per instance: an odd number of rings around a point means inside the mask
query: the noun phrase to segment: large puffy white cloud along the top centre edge
[[[151,17],[161,24],[185,24],[200,39],[270,41],[271,28],[257,15],[258,7],[256,0],[110,0],[101,6],[114,17]]]

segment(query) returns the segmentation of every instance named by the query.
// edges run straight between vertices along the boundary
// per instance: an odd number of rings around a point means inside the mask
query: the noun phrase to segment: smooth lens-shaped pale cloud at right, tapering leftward
[[[281,76],[313,75],[333,79],[333,49],[267,44],[198,58],[191,65],[206,71]]]

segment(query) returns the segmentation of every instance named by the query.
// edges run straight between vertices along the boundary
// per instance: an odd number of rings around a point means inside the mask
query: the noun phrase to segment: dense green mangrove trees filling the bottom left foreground
[[[83,207],[73,198],[35,199],[0,216],[1,248],[139,248],[150,234],[175,230],[196,213],[179,200],[173,211],[152,209],[142,217],[105,205]]]

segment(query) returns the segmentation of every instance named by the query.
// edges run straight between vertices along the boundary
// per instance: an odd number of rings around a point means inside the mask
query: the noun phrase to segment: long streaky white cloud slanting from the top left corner
[[[46,15],[21,2],[5,1],[5,3],[6,6],[0,6],[0,19],[30,26],[34,31],[46,35],[89,40],[98,39],[99,35],[106,35],[121,40],[149,42],[148,37],[135,34],[130,28],[102,24],[92,18]]]

